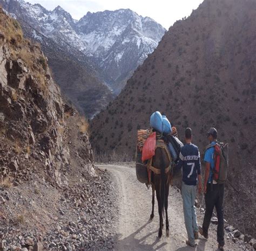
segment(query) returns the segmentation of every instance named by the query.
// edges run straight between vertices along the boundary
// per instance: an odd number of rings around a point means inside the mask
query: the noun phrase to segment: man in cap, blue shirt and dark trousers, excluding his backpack
[[[218,218],[217,227],[217,241],[218,248],[224,250],[224,213],[223,213],[223,200],[224,200],[224,184],[217,184],[213,179],[214,169],[214,145],[217,142],[217,130],[210,128],[207,133],[210,145],[205,151],[205,179],[204,179],[204,192],[205,192],[205,216],[203,227],[200,227],[199,232],[206,239],[208,239],[208,228],[212,218],[213,208],[215,206]]]

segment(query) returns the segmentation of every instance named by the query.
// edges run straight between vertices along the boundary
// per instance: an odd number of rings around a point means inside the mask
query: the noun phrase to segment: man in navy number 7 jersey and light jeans
[[[195,239],[198,239],[198,224],[194,200],[197,193],[197,181],[199,193],[201,193],[201,163],[198,147],[192,144],[192,130],[185,130],[186,144],[180,150],[177,167],[183,169],[181,195],[183,198],[183,211],[187,229],[187,245],[194,247]]]

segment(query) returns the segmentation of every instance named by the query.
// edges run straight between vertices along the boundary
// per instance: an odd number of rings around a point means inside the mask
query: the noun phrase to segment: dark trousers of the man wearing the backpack
[[[203,223],[203,230],[208,234],[208,228],[212,218],[213,208],[215,206],[218,218],[217,241],[220,246],[224,246],[224,213],[223,213],[223,199],[224,199],[224,184],[207,184],[207,192],[205,194],[205,217]]]

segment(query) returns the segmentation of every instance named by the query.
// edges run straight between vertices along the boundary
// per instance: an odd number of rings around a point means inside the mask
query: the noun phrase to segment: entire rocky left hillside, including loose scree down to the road
[[[103,249],[113,189],[95,168],[88,124],[2,9],[0,31],[0,250]]]

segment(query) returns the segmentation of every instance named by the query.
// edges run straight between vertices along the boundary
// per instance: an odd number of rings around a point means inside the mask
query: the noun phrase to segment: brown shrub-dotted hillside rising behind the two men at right
[[[91,123],[99,154],[130,157],[137,129],[149,127],[155,110],[169,117],[179,135],[190,126],[202,155],[206,132],[216,127],[219,140],[230,145],[225,212],[254,235],[255,11],[253,0],[204,1],[170,27],[122,93]]]

